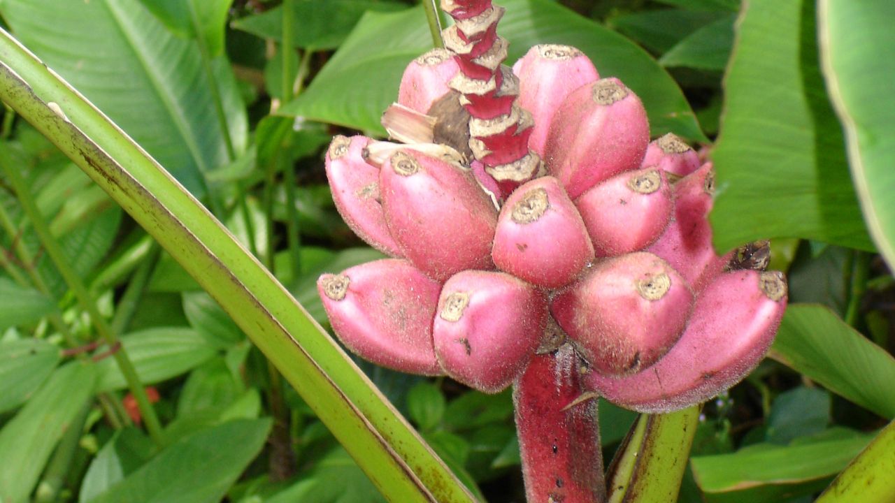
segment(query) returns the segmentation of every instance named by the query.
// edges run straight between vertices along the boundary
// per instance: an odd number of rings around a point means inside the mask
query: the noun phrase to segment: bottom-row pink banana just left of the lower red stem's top
[[[441,290],[432,328],[435,354],[450,377],[497,393],[528,363],[546,316],[543,295],[524,281],[496,271],[463,271]]]

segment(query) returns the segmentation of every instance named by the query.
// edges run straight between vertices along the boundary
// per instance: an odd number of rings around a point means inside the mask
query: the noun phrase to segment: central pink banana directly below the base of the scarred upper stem
[[[516,277],[557,288],[575,279],[593,260],[593,245],[557,179],[542,176],[507,198],[491,256],[500,269]]]

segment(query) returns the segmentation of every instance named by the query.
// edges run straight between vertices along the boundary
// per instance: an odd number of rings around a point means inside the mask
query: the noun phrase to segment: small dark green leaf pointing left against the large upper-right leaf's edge
[[[699,70],[724,70],[733,48],[733,22],[736,14],[695,30],[662,55],[662,66],[686,66]]]

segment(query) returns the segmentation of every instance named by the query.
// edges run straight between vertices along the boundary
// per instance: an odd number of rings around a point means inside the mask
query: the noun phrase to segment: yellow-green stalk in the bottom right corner
[[[814,503],[895,501],[895,422],[880,431]]]

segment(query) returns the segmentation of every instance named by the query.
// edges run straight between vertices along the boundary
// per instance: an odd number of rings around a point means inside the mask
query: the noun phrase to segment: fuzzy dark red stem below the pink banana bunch
[[[516,430],[528,503],[603,503],[596,396],[580,387],[569,345],[535,355],[516,380]]]

